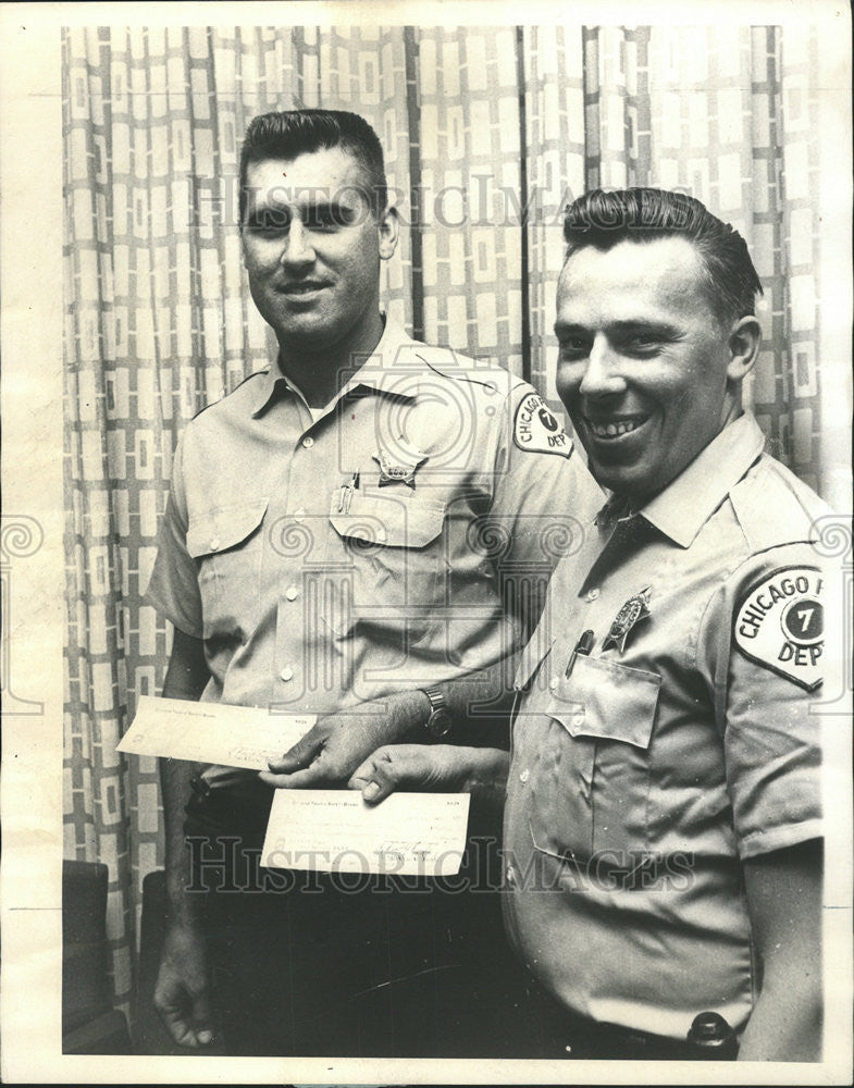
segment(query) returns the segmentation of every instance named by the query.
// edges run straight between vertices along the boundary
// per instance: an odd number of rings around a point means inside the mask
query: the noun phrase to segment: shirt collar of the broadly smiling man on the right
[[[765,435],[756,420],[740,416],[638,512],[673,543],[689,547],[764,448]],[[619,516],[620,502],[620,496],[611,496],[597,521]]]

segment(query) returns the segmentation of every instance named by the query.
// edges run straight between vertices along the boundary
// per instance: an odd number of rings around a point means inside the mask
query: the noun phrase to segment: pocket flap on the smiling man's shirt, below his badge
[[[661,678],[615,662],[583,655],[561,677],[546,714],[571,737],[649,746]]]

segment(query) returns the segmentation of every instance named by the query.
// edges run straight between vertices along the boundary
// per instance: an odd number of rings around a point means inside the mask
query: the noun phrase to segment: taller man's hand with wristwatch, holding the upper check
[[[343,786],[381,745],[411,737],[429,713],[426,695],[414,691],[327,715],[281,759],[271,761],[270,770],[262,770],[260,777],[281,790]]]

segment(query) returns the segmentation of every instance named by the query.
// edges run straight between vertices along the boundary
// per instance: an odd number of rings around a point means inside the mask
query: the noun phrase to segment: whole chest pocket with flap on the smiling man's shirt
[[[649,746],[660,685],[655,672],[584,655],[558,678],[546,714],[564,735],[553,742],[562,750],[570,852],[616,852],[619,860],[610,861],[631,868],[632,855],[648,849]]]

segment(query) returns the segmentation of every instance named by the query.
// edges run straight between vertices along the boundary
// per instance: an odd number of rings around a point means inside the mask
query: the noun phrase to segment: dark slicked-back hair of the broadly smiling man
[[[701,258],[715,314],[729,325],[753,314],[762,284],[744,238],[693,197],[667,189],[593,189],[567,208],[567,260],[587,246],[608,250],[619,242],[683,237]]]

